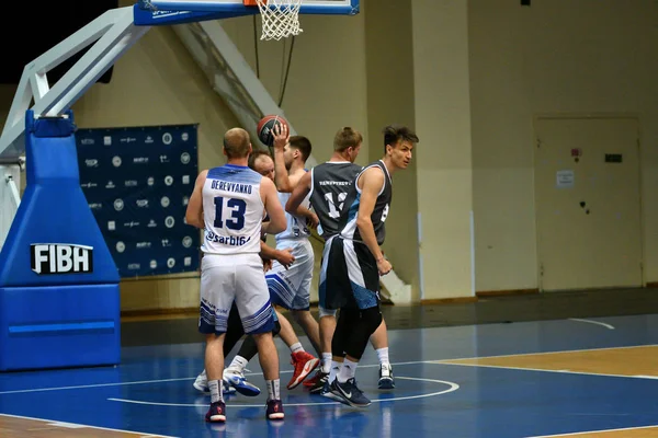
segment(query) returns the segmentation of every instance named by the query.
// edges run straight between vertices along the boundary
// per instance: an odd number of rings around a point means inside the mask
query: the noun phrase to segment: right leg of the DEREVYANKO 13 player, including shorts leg
[[[258,255],[236,257],[239,263],[236,278],[236,304],[242,318],[245,333],[253,335],[258,347],[258,357],[268,387],[268,419],[282,419],[279,379],[279,355],[272,337],[274,312],[270,303],[270,292]]]

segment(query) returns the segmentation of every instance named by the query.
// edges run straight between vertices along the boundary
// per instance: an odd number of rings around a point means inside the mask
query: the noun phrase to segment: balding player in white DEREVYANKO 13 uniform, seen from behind
[[[208,422],[226,420],[220,384],[223,343],[234,301],[245,333],[253,335],[258,345],[269,393],[265,416],[284,417],[279,356],[272,338],[274,313],[259,253],[261,228],[270,233],[285,230],[285,214],[272,181],[247,166],[250,152],[249,134],[241,128],[229,129],[224,137],[227,164],[198,174],[185,215],[188,223],[206,230],[198,331],[206,334]],[[265,211],[270,221],[262,223]]]

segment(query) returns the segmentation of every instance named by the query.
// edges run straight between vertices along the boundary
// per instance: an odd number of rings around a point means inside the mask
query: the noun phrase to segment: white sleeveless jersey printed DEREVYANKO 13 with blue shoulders
[[[226,164],[208,171],[203,186],[207,254],[260,253],[263,200],[262,175],[242,165]]]

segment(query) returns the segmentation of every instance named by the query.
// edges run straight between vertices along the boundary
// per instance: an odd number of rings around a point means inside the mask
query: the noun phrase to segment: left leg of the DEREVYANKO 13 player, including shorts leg
[[[222,391],[224,337],[235,296],[235,266],[222,256],[205,256],[201,272],[198,331],[206,335],[205,369],[211,391],[208,422],[225,422],[226,405]]]

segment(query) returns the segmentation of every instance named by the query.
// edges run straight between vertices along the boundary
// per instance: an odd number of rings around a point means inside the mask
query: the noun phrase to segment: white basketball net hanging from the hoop
[[[302,0],[257,0],[263,33],[261,39],[282,39],[298,35]]]

